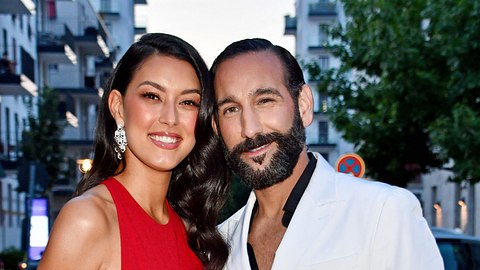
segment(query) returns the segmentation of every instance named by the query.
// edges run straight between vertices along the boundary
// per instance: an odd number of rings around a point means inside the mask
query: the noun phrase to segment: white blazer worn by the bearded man
[[[317,165],[275,254],[273,270],[441,270],[443,260],[416,197],[406,189]],[[250,269],[247,239],[255,204],[219,225],[231,254],[225,269]]]

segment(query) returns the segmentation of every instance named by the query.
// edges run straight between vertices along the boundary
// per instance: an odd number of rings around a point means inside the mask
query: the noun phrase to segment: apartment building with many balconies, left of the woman
[[[0,250],[21,247],[25,192],[17,192],[23,131],[38,93],[49,87],[58,113],[65,164],[51,189],[50,220],[80,179],[79,165],[92,157],[97,106],[106,81],[136,33],[134,7],[145,0],[5,0],[0,5],[0,52],[11,72],[0,72]],[[50,222],[51,223],[51,222]]]

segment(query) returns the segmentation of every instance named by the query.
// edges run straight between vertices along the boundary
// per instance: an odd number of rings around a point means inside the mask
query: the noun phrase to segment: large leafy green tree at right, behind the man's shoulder
[[[448,161],[480,180],[480,2],[343,1],[328,29],[341,65],[306,67],[369,176],[398,186]],[[450,162],[451,163],[451,162]]]

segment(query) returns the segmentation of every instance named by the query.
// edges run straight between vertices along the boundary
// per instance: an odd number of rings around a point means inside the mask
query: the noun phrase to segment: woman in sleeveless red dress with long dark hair
[[[223,267],[215,225],[229,175],[208,87],[204,61],[178,37],[147,34],[129,48],[102,97],[92,169],[38,269]]]

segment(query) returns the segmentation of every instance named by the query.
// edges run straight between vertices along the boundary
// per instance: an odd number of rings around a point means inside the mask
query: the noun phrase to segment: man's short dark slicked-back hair
[[[225,50],[223,50],[223,52],[221,52],[213,61],[212,67],[210,68],[212,80],[215,80],[217,69],[223,62],[243,54],[262,51],[272,52],[278,57],[278,59],[282,63],[285,86],[289,90],[295,104],[298,105],[298,96],[300,94],[302,86],[305,84],[305,78],[303,77],[303,72],[300,68],[300,65],[298,64],[295,57],[288,50],[281,46],[274,45],[270,41],[263,38],[243,39],[228,45]],[[216,107],[215,92],[213,91],[213,88],[211,91],[207,91],[207,95],[205,95],[204,97],[204,99],[208,101],[209,106]],[[214,110],[214,116],[215,121],[217,121],[217,109]]]

